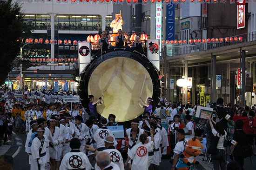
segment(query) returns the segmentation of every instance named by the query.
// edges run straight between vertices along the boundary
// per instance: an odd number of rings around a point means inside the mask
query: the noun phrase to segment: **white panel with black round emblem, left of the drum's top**
[[[79,74],[85,69],[91,60],[90,42],[78,42]]]

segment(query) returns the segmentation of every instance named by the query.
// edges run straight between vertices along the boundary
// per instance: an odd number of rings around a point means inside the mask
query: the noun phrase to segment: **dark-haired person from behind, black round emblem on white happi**
[[[89,159],[86,156],[86,154],[79,150],[80,147],[81,143],[77,138],[73,138],[70,140],[70,148],[72,150],[63,157],[61,161],[60,170],[92,169],[92,165],[89,162]]]

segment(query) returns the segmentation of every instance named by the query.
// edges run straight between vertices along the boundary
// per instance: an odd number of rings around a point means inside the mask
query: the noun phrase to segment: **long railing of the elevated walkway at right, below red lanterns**
[[[235,40],[235,37],[237,40]],[[242,40],[239,40],[238,38],[242,37]],[[225,38],[222,38],[222,42],[218,39],[218,42],[216,41],[210,41],[210,42],[201,42],[201,43],[192,43],[189,44],[187,42],[186,44],[174,44],[174,46],[167,47],[167,57],[173,57],[177,55],[182,55],[182,54],[189,54],[193,52],[202,52],[206,50],[212,50],[215,48],[220,48],[223,46],[232,46],[235,44],[243,43],[243,42],[250,42],[250,41],[256,41],[256,32],[252,33],[245,33],[245,34],[240,34],[232,37],[228,37],[229,40],[226,41]],[[230,40],[232,38],[233,40]]]

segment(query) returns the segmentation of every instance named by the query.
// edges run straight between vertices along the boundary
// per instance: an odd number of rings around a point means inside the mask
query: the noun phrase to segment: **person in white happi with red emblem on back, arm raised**
[[[152,148],[154,147],[153,132],[153,130],[150,130],[151,141],[148,144],[145,144],[147,136],[145,134],[141,134],[140,143],[135,145],[128,152],[128,159],[124,164],[125,167],[127,166],[128,161],[132,159],[133,163],[131,170],[148,170],[148,150],[152,150]]]

